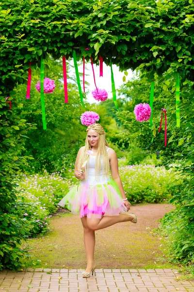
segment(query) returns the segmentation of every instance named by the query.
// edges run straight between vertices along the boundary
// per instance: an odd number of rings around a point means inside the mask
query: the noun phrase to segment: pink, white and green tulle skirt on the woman
[[[60,206],[66,206],[71,213],[101,218],[102,215],[114,216],[119,215],[127,208],[123,202],[118,185],[110,179],[106,183],[80,183],[78,190],[77,185],[73,186],[66,196],[58,203]]]

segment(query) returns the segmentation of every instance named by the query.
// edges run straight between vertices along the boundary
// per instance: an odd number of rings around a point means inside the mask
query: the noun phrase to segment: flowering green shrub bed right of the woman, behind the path
[[[120,167],[121,181],[131,203],[161,203],[168,201],[174,190],[175,179],[164,167],[127,165]]]

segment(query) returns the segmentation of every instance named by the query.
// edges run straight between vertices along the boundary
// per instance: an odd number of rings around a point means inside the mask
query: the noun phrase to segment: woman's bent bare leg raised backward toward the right
[[[92,230],[99,230],[119,222],[132,221],[132,219],[132,216],[123,214],[116,216],[103,216],[101,219],[97,219],[92,216],[92,218],[87,218],[87,226]]]

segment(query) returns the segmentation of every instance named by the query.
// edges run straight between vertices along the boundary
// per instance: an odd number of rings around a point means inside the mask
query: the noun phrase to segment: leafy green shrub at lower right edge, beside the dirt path
[[[175,188],[170,200],[176,209],[161,220],[162,234],[169,247],[168,257],[181,264],[194,264],[194,181],[184,177]]]

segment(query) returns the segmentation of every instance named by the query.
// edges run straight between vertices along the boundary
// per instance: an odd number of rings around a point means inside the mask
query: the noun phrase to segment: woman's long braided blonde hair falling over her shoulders
[[[96,157],[96,164],[95,164],[95,178],[97,180],[97,175],[100,174],[101,167],[102,167],[103,177],[104,176],[108,177],[109,171],[110,171],[110,164],[109,164],[108,153],[106,150],[106,146],[108,146],[108,143],[107,143],[106,138],[105,138],[106,132],[104,131],[103,127],[100,124],[91,124],[86,129],[86,132],[88,132],[89,130],[95,130],[98,133],[98,148],[97,148],[97,157]],[[92,148],[92,146],[88,141],[88,137],[86,136],[85,147],[83,148],[83,151],[81,153],[80,160],[78,163],[78,167],[80,169],[81,165],[83,165],[83,163],[86,160],[88,161],[86,164],[86,172],[85,172],[86,179],[87,179],[87,172],[88,172],[88,168],[89,168],[89,159],[90,159],[90,157],[89,157],[90,155],[88,155],[86,152],[88,150],[91,150],[91,148]],[[102,166],[101,166],[100,158],[102,158]]]

